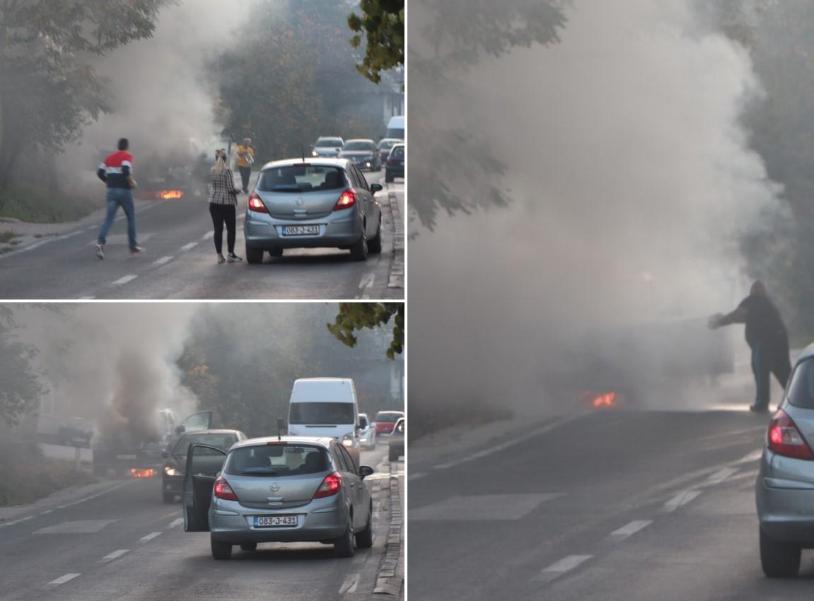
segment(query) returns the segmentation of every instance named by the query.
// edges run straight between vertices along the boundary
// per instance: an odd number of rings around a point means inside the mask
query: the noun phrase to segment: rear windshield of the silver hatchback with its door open
[[[328,469],[326,450],[291,442],[244,446],[226,459],[223,471],[232,476],[302,476]]]

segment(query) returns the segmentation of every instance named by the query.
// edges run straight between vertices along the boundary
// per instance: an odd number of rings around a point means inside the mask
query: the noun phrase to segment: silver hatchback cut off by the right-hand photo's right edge
[[[755,484],[760,563],[768,577],[791,577],[802,549],[814,548],[814,344],[794,365],[769,424]]]

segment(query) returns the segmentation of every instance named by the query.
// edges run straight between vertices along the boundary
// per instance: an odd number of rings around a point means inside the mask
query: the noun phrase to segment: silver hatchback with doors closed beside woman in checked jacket
[[[382,251],[382,209],[374,194],[381,184],[344,159],[276,160],[260,171],[249,195],[243,230],[246,259],[283,248],[344,248],[364,261]]]

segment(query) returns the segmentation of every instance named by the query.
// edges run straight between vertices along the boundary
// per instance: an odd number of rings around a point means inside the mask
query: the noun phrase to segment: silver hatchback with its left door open
[[[212,457],[221,457],[217,465]],[[279,436],[232,445],[228,454],[190,445],[184,529],[209,532],[212,557],[259,542],[322,542],[340,557],[373,545],[373,503],[356,464],[333,438]]]

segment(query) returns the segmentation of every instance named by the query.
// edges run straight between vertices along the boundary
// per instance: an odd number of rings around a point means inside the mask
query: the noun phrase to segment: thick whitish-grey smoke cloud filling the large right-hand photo
[[[573,2],[560,44],[466,75],[458,122],[508,165],[514,203],[411,243],[411,403],[545,403],[538,374],[581,331],[731,309],[744,292],[738,235],[777,194],[739,122],[759,82],[692,6]],[[410,103],[439,126],[461,112]],[[466,173],[449,178],[466,194]]]

